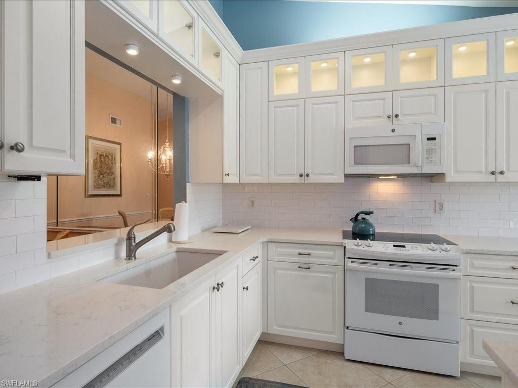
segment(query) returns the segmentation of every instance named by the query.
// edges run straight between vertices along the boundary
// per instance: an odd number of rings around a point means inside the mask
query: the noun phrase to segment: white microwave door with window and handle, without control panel
[[[346,129],[346,174],[419,174],[421,124]]]

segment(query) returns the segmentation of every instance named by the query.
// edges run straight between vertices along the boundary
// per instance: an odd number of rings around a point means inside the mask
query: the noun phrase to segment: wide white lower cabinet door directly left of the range
[[[268,262],[268,333],[343,344],[343,267]]]

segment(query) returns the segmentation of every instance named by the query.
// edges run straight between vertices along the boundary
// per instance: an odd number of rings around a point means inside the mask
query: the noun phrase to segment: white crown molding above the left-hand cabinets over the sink
[[[218,13],[212,8],[208,0],[188,0],[205,24],[211,29],[214,35],[224,44],[225,48],[232,54],[238,63],[241,62],[243,49],[239,46],[234,35],[228,31],[225,23]]]

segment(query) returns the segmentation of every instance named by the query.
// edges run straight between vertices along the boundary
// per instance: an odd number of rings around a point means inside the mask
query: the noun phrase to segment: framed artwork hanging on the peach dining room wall
[[[85,197],[122,195],[121,143],[86,137]]]

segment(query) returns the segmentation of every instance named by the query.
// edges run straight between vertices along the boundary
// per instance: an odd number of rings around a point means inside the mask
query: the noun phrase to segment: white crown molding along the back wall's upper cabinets
[[[509,13],[506,15],[461,20],[458,22],[434,24],[422,27],[396,29],[394,31],[356,35],[347,38],[329,39],[318,42],[297,43],[286,46],[248,50],[243,52],[239,63],[263,62],[297,56],[367,49],[370,47],[390,46],[392,44],[415,42],[420,40],[505,31],[508,29],[518,29],[518,13]]]

